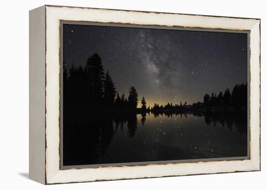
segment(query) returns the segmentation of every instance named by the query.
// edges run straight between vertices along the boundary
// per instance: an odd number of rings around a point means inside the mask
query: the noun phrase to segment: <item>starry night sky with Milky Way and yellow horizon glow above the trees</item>
[[[247,82],[247,34],[64,24],[67,69],[102,58],[116,90],[130,86],[147,105],[203,102],[203,96]]]

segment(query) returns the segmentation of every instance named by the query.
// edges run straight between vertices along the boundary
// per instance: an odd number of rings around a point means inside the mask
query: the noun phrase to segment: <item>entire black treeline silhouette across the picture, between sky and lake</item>
[[[212,109],[212,108],[245,108],[247,107],[247,83],[235,85],[232,93],[227,88],[224,92],[205,94],[203,102],[195,102],[188,105],[187,102],[167,103],[159,105],[155,103],[151,108],[147,107],[146,99],[141,99],[141,108],[137,109],[138,93],[134,86],[129,88],[129,95],[124,92],[119,95],[116,86],[104,68],[101,58],[97,53],[90,56],[84,67],[72,67],[67,71],[63,68],[64,88],[64,113],[72,111],[97,110],[124,110],[133,112],[181,112],[184,109]]]

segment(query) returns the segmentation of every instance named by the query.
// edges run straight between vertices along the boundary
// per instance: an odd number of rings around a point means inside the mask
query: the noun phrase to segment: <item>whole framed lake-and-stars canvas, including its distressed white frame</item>
[[[30,178],[260,170],[260,19],[30,11]]]

